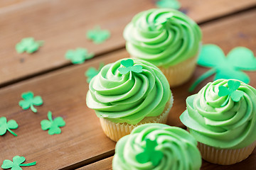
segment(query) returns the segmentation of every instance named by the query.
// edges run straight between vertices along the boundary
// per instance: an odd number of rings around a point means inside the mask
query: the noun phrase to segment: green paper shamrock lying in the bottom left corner
[[[13,161],[11,162],[8,159],[5,159],[3,164],[1,165],[2,169],[10,169],[11,170],[22,170],[20,166],[33,166],[36,165],[36,162],[31,162],[28,164],[22,164],[26,159],[24,157],[15,156],[13,157]]]

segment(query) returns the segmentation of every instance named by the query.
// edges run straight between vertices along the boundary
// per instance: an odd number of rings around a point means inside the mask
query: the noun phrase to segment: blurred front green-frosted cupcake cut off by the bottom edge
[[[139,125],[117,142],[113,170],[197,170],[202,159],[186,130],[159,123]]]

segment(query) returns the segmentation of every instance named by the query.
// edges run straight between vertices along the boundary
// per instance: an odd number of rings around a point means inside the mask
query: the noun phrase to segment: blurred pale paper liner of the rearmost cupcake
[[[191,78],[193,72],[196,69],[198,55],[189,58],[174,66],[164,68],[159,67],[161,72],[164,73],[171,87],[181,85]]]

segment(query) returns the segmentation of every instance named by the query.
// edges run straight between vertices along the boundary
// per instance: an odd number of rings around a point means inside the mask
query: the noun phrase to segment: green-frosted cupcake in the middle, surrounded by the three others
[[[169,83],[154,64],[122,59],[103,67],[89,84],[86,103],[105,134],[117,141],[144,123],[166,123],[173,104]]]

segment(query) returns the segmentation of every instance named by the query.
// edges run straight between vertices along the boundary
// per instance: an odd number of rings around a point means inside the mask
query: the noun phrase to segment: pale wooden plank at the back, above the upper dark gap
[[[181,4],[183,11],[202,22],[254,6],[256,0],[182,0]],[[69,49],[86,47],[99,55],[124,47],[122,31],[127,23],[139,11],[155,7],[149,0],[27,0],[0,8],[0,85],[69,64],[64,57]],[[85,38],[96,25],[112,34],[102,45]],[[33,55],[18,55],[15,45],[26,37],[44,40],[45,45]]]

